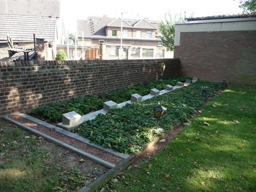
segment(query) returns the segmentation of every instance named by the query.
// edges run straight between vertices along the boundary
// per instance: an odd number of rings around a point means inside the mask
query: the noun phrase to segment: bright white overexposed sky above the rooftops
[[[240,0],[60,0],[60,17],[65,22],[66,30],[76,31],[76,20],[87,19],[88,16],[149,18],[162,20],[166,13],[186,16],[211,16],[242,13]]]

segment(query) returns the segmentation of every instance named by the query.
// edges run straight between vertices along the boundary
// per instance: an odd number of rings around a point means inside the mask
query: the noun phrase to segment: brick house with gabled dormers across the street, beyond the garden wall
[[[163,58],[166,47],[159,37],[159,23],[146,18],[123,19],[121,50],[121,19],[89,16],[77,20],[78,44],[91,46],[91,54],[102,59],[120,59],[121,55],[126,59]]]

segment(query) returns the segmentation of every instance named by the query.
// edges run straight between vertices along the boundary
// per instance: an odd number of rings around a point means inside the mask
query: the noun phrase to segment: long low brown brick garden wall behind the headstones
[[[0,116],[179,76],[179,59],[0,62]]]

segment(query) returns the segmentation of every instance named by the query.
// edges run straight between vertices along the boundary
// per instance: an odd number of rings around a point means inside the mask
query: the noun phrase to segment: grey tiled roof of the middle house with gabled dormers
[[[156,20],[129,19],[129,18],[123,19],[123,27],[156,29],[157,32],[159,32],[159,27],[158,27],[159,23],[160,22]],[[138,26],[134,26],[136,24]],[[82,31],[84,33],[84,37],[96,37],[96,38],[106,37],[106,31],[105,31],[106,26],[121,27],[121,19],[113,18],[113,17],[89,16],[88,20],[77,20],[78,37],[82,37]]]

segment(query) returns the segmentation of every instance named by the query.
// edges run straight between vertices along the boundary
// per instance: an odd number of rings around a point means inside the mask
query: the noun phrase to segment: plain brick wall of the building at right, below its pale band
[[[183,76],[256,84],[256,31],[183,32],[174,57]]]

